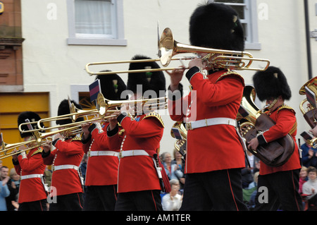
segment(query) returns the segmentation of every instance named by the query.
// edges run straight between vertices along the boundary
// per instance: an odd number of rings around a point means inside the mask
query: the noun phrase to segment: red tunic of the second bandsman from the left
[[[60,169],[54,171],[54,166],[75,165],[80,166],[84,151],[80,139],[57,140],[56,147],[48,157],[44,158],[44,164],[53,164],[51,176],[51,196],[82,193],[82,184],[78,172],[75,169]]]

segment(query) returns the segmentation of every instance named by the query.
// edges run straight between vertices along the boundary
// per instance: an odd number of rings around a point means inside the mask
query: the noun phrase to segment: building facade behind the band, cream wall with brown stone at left
[[[164,28],[173,31],[176,41],[189,44],[189,17],[198,4],[205,2],[1,0],[0,129],[4,141],[20,141],[16,130],[20,111],[56,116],[61,100],[87,99],[88,85],[95,79],[85,71],[87,63],[130,60],[135,54],[157,59],[158,35]],[[308,18],[309,32],[317,30],[317,0],[308,1],[308,13],[305,1],[298,0],[220,2],[231,4],[240,13],[246,32],[245,51],[254,58],[269,59],[272,66],[285,73],[292,90],[292,99],[286,104],[297,111],[298,133],[308,130],[299,110],[299,103],[305,98],[299,95],[299,89],[309,80],[309,59],[311,76],[317,75],[317,38],[309,37],[308,57],[305,23]],[[126,63],[89,69],[124,71],[128,66]],[[254,71],[240,73],[245,83],[251,84]],[[170,80],[165,74],[168,87]],[[128,75],[123,73],[122,78],[126,81]],[[189,85],[186,78],[182,83],[186,88]],[[89,104],[88,101],[86,107]],[[167,111],[161,113],[166,124],[161,152],[173,152],[175,139],[170,129],[174,122]]]

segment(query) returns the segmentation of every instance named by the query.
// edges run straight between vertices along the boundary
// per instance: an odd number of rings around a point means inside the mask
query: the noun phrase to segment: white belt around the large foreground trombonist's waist
[[[187,130],[194,130],[196,128],[202,128],[206,126],[213,126],[213,125],[230,125],[230,126],[237,126],[237,121],[233,118],[205,118],[199,121],[192,121],[186,123]]]

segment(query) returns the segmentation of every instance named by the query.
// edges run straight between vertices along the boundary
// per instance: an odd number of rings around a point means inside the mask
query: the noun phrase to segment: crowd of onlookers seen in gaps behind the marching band
[[[317,206],[317,148],[309,145],[301,146],[302,169],[299,173],[299,193],[302,195],[305,210],[316,210]],[[178,211],[182,205],[182,193],[185,184],[185,159],[174,150],[173,154],[163,152],[160,154],[161,162],[170,179],[170,193],[161,193],[162,207],[165,211]],[[0,211],[15,211],[18,209],[18,193],[20,188],[20,176],[15,169],[8,169],[0,160]],[[80,165],[82,176],[85,178],[87,168],[87,156],[82,159]],[[259,176],[259,159],[253,154],[247,154],[246,167],[242,169],[242,190],[245,204],[250,210],[254,209],[257,191],[257,178]],[[51,182],[51,171],[46,167],[44,178],[48,186]]]

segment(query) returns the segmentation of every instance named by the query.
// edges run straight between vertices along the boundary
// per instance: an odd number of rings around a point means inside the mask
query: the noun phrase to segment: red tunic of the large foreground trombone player
[[[170,118],[173,121],[186,122],[187,118],[188,121],[219,117],[237,118],[244,89],[243,78],[227,70],[212,73],[207,77],[208,79],[204,79],[201,73],[194,73],[189,80],[192,85],[189,96],[168,101]],[[187,116],[186,111],[175,114],[175,107],[179,106],[181,101],[182,104],[187,104]],[[185,173],[244,167],[244,150],[234,126],[214,125],[187,131]]]

